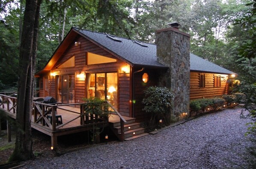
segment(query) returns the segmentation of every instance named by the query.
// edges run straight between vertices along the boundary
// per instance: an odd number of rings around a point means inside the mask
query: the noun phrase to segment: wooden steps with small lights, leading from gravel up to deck
[[[127,123],[125,123],[124,125],[126,141],[149,134],[144,132],[144,128],[140,127],[140,123],[135,122],[135,118],[130,118],[129,120],[126,120],[126,121]],[[110,127],[112,131],[115,133],[115,135],[119,138],[121,135],[120,121],[110,123]]]

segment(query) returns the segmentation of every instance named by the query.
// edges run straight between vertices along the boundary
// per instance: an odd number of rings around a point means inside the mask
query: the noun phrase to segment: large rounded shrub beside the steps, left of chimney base
[[[155,117],[164,120],[165,124],[170,123],[170,109],[172,108],[173,92],[166,87],[151,86],[145,91],[145,98],[142,103],[145,105],[143,110],[152,113],[149,127],[155,125]]]

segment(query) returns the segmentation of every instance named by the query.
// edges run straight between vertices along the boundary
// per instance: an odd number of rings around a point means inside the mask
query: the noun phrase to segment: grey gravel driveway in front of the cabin
[[[131,141],[95,146],[52,159],[26,161],[31,169],[223,169],[244,163],[248,119],[239,107],[204,115]]]

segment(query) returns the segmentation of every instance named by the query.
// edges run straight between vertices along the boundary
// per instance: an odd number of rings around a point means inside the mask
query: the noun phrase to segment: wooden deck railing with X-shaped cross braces
[[[111,105],[108,101],[106,101],[111,107],[111,113],[114,113],[120,117],[120,126],[121,126],[121,136],[120,141],[124,140],[124,123],[127,123],[124,117],[120,115],[120,113],[116,110],[113,105]],[[84,111],[84,106],[86,103],[72,103],[72,104],[47,104],[40,102],[33,102],[33,120],[32,123],[35,123],[38,126],[47,127],[51,131],[57,131],[72,121],[80,118],[80,126],[90,125],[93,123],[104,124],[108,123],[108,116],[98,116],[98,115],[88,115]],[[64,106],[80,106],[80,112],[72,111],[70,109],[66,109]],[[5,109],[9,112],[9,115],[13,118],[16,117],[16,109],[17,109],[17,97],[6,96],[0,94],[0,108]],[[65,123],[58,123],[56,116],[58,115],[56,112],[58,110],[62,110],[71,114],[77,114],[77,116],[72,119],[65,120]],[[51,119],[49,119],[49,115]],[[57,125],[58,124],[58,125]],[[77,125],[79,126],[79,124]]]

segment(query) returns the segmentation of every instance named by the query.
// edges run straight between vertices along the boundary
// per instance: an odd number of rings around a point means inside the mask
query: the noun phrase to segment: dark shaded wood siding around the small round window
[[[136,70],[135,70],[136,71]],[[157,70],[155,69],[145,69],[143,72],[138,72],[134,74],[134,99],[135,103],[134,106],[134,117],[136,118],[137,122],[142,122],[145,120],[149,120],[150,115],[143,111],[144,105],[142,104],[142,100],[144,98],[144,90],[149,86],[157,86],[158,83],[158,74]],[[142,81],[142,75],[144,73],[149,74],[149,81],[148,83],[144,83]]]

